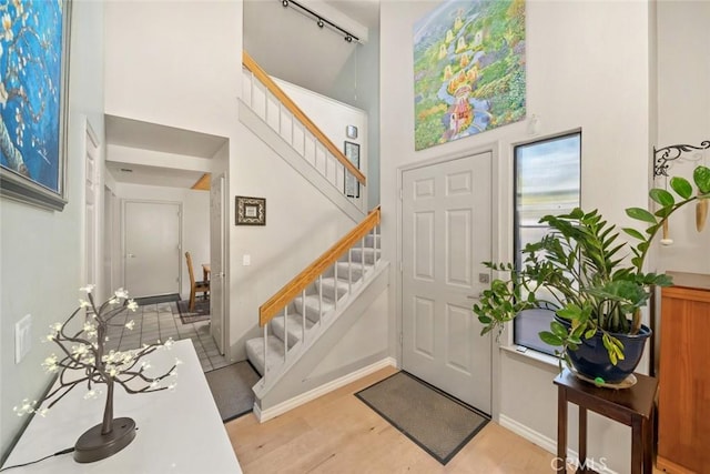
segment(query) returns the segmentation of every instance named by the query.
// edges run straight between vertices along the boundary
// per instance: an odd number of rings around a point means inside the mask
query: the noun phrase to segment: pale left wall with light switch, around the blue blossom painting
[[[83,140],[88,118],[103,142],[102,2],[73,2],[68,129],[68,200],[48,212],[0,199],[0,462],[24,418],[12,407],[37,399],[50,382],[41,362],[55,351],[41,344],[51,323],[77,307],[83,285]],[[100,167],[103,168],[103,167]],[[14,323],[32,314],[32,349],[14,363]],[[61,410],[61,402],[57,407]]]

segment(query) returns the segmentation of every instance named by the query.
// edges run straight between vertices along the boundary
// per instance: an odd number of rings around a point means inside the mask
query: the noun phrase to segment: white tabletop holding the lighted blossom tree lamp
[[[183,364],[178,366],[174,391],[129,395],[116,386],[114,417],[129,416],[138,427],[135,438],[125,448],[94,463],[80,464],[73,454],[63,454],[9,472],[241,473],[192,341],[178,341],[171,350],[156,351],[145,359],[158,375],[170,369],[175,357]],[[101,423],[105,396],[84,400],[84,387],[78,386],[45,417],[34,416],[3,466],[71,447],[84,431]]]

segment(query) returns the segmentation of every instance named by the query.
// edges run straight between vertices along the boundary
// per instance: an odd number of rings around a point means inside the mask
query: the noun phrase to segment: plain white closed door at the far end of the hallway
[[[180,228],[178,203],[125,202],[125,289],[131,296],[180,293]]]

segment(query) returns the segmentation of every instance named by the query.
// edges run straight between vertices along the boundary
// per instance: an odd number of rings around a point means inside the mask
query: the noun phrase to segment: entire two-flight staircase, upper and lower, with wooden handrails
[[[386,290],[388,264],[381,261],[379,208],[365,215],[365,175],[246,52],[243,64],[240,121],[359,222],[260,307],[263,334],[245,349],[262,375],[253,391],[263,421],[265,410],[273,413],[315,387],[313,370]],[[346,177],[362,186],[357,195],[345,190]]]

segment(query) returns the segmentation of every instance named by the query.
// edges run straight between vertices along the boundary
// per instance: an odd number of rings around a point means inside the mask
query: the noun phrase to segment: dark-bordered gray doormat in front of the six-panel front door
[[[448,463],[489,417],[406,372],[355,394],[439,463]]]

